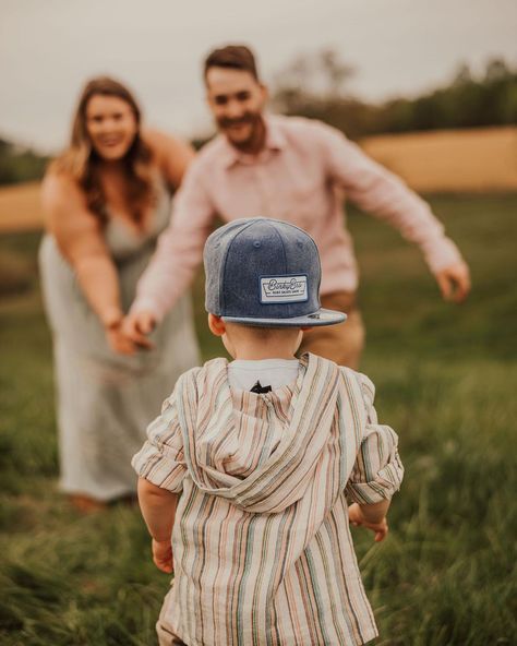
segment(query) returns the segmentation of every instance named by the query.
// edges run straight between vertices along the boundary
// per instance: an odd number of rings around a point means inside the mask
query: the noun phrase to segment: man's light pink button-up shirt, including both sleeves
[[[344,225],[344,196],[419,244],[431,271],[461,261],[429,205],[339,131],[298,117],[269,116],[266,127],[258,155],[243,155],[219,135],[194,159],[132,311],[161,318],[175,304],[201,262],[216,217],[273,217],[303,228],[320,249],[322,294],[354,291],[358,268]]]

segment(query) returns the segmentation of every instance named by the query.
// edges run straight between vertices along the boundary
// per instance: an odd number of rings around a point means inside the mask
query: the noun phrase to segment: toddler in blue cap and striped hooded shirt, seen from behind
[[[402,466],[363,374],[315,355],[320,307],[304,231],[269,218],[204,251],[208,326],[233,361],[184,373],[133,458],[153,559],[175,573],[160,645],[359,645],[377,635],[349,522],[380,541]]]

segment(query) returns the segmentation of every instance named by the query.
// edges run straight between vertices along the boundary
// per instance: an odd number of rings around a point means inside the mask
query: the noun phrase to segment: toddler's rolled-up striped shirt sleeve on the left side
[[[131,465],[141,478],[161,489],[172,493],[183,489],[187,465],[175,393],[164,402],[161,415],[147,427],[147,441]]]

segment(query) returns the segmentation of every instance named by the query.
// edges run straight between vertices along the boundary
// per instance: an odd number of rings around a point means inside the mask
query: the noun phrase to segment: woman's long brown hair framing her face
[[[131,205],[133,222],[142,224],[145,212],[156,201],[156,184],[153,167],[153,153],[144,143],[140,132],[141,110],[130,91],[109,76],[98,76],[88,81],[80,96],[72,122],[72,136],[69,147],[51,164],[50,171],[71,176],[86,196],[87,207],[104,225],[107,222],[106,199],[100,182],[99,155],[92,146],[86,129],[86,108],[92,97],[115,96],[125,101],[136,119],[136,134],[122,163],[128,179],[127,200]]]

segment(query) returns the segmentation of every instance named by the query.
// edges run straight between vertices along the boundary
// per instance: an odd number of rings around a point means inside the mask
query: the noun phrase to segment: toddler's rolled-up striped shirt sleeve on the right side
[[[398,455],[397,434],[377,422],[373,383],[364,374],[358,376],[368,423],[345,492],[349,503],[374,504],[389,500],[400,488],[404,467]]]

